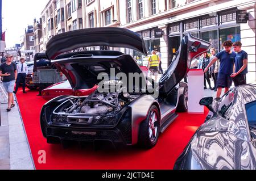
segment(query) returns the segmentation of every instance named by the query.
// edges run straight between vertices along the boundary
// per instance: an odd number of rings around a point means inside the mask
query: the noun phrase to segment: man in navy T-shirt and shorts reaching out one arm
[[[220,60],[220,69],[218,71],[218,79],[217,79],[217,95],[216,100],[220,100],[222,88],[225,88],[225,93],[229,91],[230,86],[232,85],[232,78],[230,75],[233,73],[234,68],[234,60],[236,57],[236,53],[231,50],[232,41],[224,41],[222,44],[224,50],[218,53],[212,61],[210,61],[207,68],[204,69],[204,73],[206,73],[209,67],[214,64],[218,59]]]

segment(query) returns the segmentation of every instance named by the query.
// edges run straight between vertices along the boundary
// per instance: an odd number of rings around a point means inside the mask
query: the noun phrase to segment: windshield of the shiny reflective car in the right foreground
[[[222,98],[220,99],[220,104],[218,106],[218,113],[220,113],[222,117],[228,120],[230,117],[229,113],[231,112],[233,99],[234,99],[234,91],[230,90],[222,96]]]

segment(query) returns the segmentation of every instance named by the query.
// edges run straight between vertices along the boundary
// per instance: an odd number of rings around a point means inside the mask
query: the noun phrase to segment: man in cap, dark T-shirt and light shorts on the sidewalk
[[[13,99],[13,90],[15,80],[17,78],[17,66],[13,60],[13,55],[6,55],[6,62],[0,66],[0,76],[3,77],[3,87],[8,93],[8,107],[7,111],[11,111],[11,108],[15,106]]]

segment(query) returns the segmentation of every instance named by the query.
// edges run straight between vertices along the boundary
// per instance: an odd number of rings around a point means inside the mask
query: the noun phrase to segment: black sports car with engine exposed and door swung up
[[[82,97],[59,96],[44,104],[40,114],[43,136],[48,143],[110,141],[113,145],[139,144],[152,148],[159,133],[164,132],[178,116],[176,111],[187,111],[187,84],[181,79],[187,74],[191,60],[206,52],[210,43],[190,33],[184,36],[176,59],[160,78],[159,86],[143,76],[129,54],[113,50],[61,54],[79,47],[101,45],[130,48],[147,54],[142,37],[124,28],[86,28],[52,37],[47,44],[47,57],[66,75],[72,89],[88,89],[96,84],[100,87],[99,83],[103,82],[102,86],[108,91],[97,89]],[[111,74],[113,69],[114,77]],[[151,88],[159,92],[159,96],[154,97],[152,89],[131,79],[125,86],[118,73],[127,78],[130,73],[142,74],[141,80],[152,82],[154,87]],[[98,75],[110,80],[99,80]],[[119,89],[111,91],[112,87]],[[132,91],[124,91],[127,88]]]

